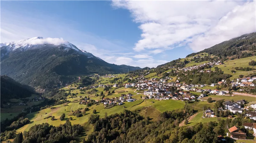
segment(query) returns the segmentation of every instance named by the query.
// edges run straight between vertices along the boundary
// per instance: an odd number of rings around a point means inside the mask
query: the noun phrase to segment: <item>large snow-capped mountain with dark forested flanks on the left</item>
[[[114,74],[141,69],[105,62],[58,38],[34,37],[0,44],[0,73],[33,87],[52,88],[77,76]]]

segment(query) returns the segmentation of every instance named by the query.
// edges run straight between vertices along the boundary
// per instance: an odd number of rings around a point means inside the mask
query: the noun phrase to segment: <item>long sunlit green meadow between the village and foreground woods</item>
[[[121,106],[114,106],[110,109],[104,109],[103,104],[93,105],[93,106],[89,107],[89,111],[86,112],[86,115],[79,117],[79,118],[77,118],[75,116],[68,116],[68,114],[72,111],[77,110],[78,108],[85,108],[86,105],[81,105],[79,103],[69,103],[68,106],[58,105],[58,106],[54,106],[54,107],[56,107],[55,109],[47,108],[47,109],[39,111],[39,113],[33,112],[30,114],[27,114],[26,117],[29,120],[31,120],[32,122],[28,125],[21,127],[17,131],[18,132],[27,131],[31,126],[34,126],[35,124],[42,124],[45,122],[47,122],[51,125],[54,125],[54,126],[58,126],[59,124],[63,124],[66,122],[65,120],[63,120],[63,121],[59,120],[59,117],[63,113],[66,114],[66,119],[68,119],[69,117],[73,118],[73,120],[71,121],[72,124],[84,125],[88,121],[88,117],[92,114],[92,111],[94,109],[97,110],[97,114],[100,115],[100,117],[104,117],[105,113],[114,114],[114,113],[122,112],[125,109],[135,111],[135,110],[141,109],[143,107],[151,106],[151,108],[149,108],[147,110],[147,112],[144,112],[141,114],[142,115],[144,114],[144,116],[146,116],[146,117],[148,116],[148,117],[154,119],[154,118],[158,117],[158,115],[161,112],[164,112],[166,110],[172,111],[175,109],[180,109],[180,108],[183,108],[183,106],[185,105],[184,102],[177,101],[177,100],[158,101],[158,100],[154,100],[154,99],[148,99],[148,100],[144,100],[143,102],[142,101],[143,101],[143,99],[138,99],[134,102],[125,102]],[[137,105],[137,104],[139,104],[139,105]],[[125,106],[126,108],[123,108],[123,106]],[[66,111],[65,111],[65,109],[66,109]],[[83,111],[83,109],[81,111]],[[55,119],[57,119],[57,120],[52,121],[52,120],[50,120],[50,118],[43,119],[47,116],[55,116]]]

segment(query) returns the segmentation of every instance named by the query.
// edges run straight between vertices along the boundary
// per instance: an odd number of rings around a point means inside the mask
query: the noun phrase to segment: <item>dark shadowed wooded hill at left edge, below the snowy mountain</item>
[[[21,85],[12,78],[0,76],[0,103],[6,103],[12,98],[26,98],[31,96],[33,89],[27,85]]]

